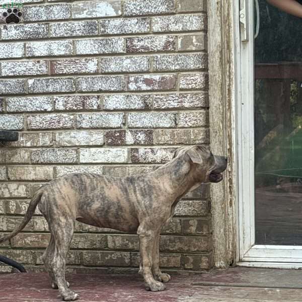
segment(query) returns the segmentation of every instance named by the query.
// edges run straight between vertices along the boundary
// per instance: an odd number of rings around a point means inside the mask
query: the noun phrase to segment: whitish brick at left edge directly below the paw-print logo
[[[1,27],[2,40],[48,38],[48,24],[14,24]]]

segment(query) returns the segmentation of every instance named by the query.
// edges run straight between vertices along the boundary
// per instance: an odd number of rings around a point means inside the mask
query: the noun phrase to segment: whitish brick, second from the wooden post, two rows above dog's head
[[[128,114],[129,128],[175,127],[174,112],[135,112]]]

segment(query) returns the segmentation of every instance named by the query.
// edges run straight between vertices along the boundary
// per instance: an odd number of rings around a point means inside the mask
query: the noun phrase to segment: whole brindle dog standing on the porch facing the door
[[[181,147],[174,158],[146,175],[115,178],[89,173],[67,174],[41,187],[31,200],[23,222],[0,243],[17,235],[34,214],[36,206],[48,222],[51,233],[43,254],[45,268],[65,301],[77,293],[65,280],[66,255],[74,221],[101,228],[137,233],[145,288],[161,291],[171,277],[159,267],[162,226],[174,214],[178,201],[201,183],[222,180],[227,158],[214,156],[201,145]]]

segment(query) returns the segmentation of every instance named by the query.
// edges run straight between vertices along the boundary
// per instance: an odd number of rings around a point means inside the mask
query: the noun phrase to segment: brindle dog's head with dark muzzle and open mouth
[[[208,147],[202,145],[180,147],[175,151],[173,158],[178,157],[183,157],[191,165],[194,178],[201,183],[221,181],[221,173],[228,164],[228,158],[213,155]]]

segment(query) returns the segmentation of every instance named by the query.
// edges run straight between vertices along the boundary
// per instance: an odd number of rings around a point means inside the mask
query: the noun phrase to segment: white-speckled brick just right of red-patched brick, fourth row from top
[[[149,70],[149,57],[105,57],[100,59],[101,72],[138,72]]]

